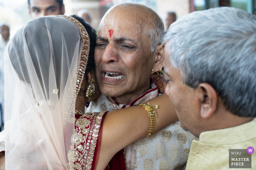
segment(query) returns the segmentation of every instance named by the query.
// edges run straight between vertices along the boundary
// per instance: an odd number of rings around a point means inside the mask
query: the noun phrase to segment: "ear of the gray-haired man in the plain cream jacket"
[[[201,83],[197,86],[197,88],[199,90],[201,105],[200,115],[204,119],[210,118],[217,109],[217,92],[208,83]]]

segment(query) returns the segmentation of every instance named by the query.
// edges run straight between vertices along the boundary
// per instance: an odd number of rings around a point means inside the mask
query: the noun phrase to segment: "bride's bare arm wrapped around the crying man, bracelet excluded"
[[[148,100],[156,109],[158,117],[155,118],[153,133],[162,130],[169,124],[178,120],[176,111],[166,94]],[[101,150],[97,170],[104,169],[110,159],[125,146],[147,136],[150,129],[150,117],[143,106],[110,111],[104,119]]]

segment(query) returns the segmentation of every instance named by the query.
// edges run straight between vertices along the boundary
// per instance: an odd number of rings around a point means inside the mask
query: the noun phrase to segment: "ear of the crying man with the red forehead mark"
[[[165,44],[161,44],[159,46],[157,46],[157,48],[155,48],[155,63],[154,63],[154,67],[153,70],[155,72],[159,71],[160,68],[163,65],[163,49],[165,48]]]

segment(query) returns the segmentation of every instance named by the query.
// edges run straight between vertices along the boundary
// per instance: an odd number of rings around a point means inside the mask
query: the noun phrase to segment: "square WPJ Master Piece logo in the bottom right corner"
[[[229,168],[252,168],[252,155],[246,149],[230,149]]]

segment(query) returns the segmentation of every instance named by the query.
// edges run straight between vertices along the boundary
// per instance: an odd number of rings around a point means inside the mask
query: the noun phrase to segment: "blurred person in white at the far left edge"
[[[8,23],[0,23],[0,34],[0,127],[2,127],[4,124],[4,50],[10,40],[10,28]]]

